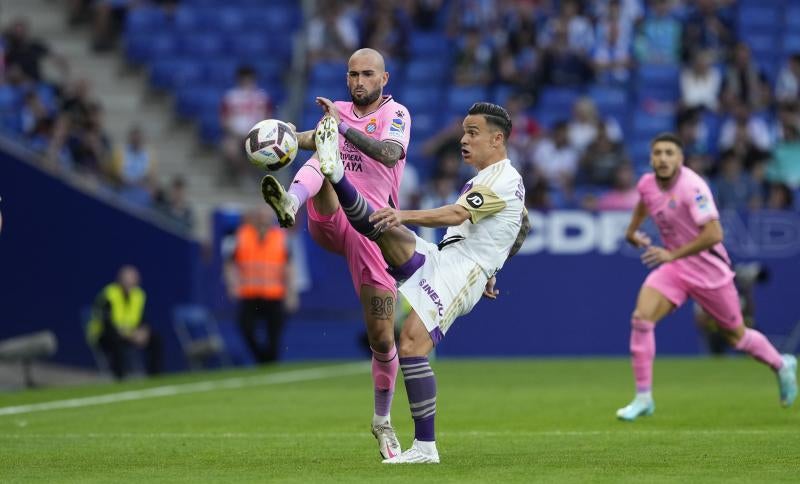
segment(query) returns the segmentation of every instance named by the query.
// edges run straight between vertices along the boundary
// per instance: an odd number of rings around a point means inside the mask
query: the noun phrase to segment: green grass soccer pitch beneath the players
[[[633,394],[627,359],[433,366],[438,466],[381,464],[368,363],[314,363],[0,394],[0,481],[800,479],[800,409],[781,408],[774,375],[744,358],[657,359],[656,413],[634,423],[614,418]],[[129,400],[58,408],[119,392]],[[392,420],[405,449],[401,378]]]

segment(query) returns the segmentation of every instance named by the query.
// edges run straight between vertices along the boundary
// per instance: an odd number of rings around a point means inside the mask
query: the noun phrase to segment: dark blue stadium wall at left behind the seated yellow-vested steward
[[[171,310],[196,300],[197,243],[22,158],[0,150],[0,339],[50,329],[55,361],[93,366],[81,313],[121,265],[133,264],[148,320],[164,339],[166,368],[185,367]]]

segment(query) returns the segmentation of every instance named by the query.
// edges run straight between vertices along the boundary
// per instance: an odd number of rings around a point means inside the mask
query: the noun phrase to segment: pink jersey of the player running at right
[[[637,188],[669,250],[691,242],[703,225],[719,219],[708,184],[689,168],[681,167],[669,189],[662,190],[653,173],[642,176]],[[671,264],[680,270],[684,280],[697,287],[715,288],[733,278],[730,258],[722,243]]]

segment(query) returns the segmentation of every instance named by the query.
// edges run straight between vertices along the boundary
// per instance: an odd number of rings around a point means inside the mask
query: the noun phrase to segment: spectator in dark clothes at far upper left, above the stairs
[[[62,78],[69,76],[69,64],[63,56],[54,53],[46,43],[30,37],[28,21],[24,18],[14,20],[4,35],[6,68],[18,65],[27,77],[35,82],[42,81],[41,62],[52,60],[61,70]]]

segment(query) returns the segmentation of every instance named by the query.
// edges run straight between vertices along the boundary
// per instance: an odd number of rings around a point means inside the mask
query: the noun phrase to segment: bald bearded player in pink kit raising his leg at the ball
[[[373,206],[396,208],[411,117],[403,105],[383,95],[388,80],[383,57],[375,50],[360,49],[350,57],[347,67],[351,102],[331,102],[326,98],[317,98],[317,102],[338,123],[339,152],[353,185]],[[336,133],[304,131],[297,134],[298,146],[316,150],[315,137],[333,135]],[[330,182],[320,172],[316,153],[298,170],[288,190],[267,175],[261,191],[283,227],[294,225],[297,210],[305,204],[311,236],[347,260],[372,348],[372,433],[384,459],[398,455],[400,443],[389,418],[399,366],[394,341],[397,289],[386,272],[380,249],[348,223]],[[309,199],[311,202],[306,203]]]

